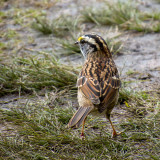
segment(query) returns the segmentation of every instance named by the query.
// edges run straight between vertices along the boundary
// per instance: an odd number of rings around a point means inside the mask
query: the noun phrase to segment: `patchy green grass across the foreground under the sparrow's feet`
[[[95,120],[88,116],[89,123],[86,123],[85,128],[86,139],[82,141],[79,138],[80,129],[66,128],[73,114],[73,108],[67,100],[64,102],[65,107],[54,103],[54,107],[50,108],[48,102],[49,99],[46,96],[43,100],[28,101],[11,110],[0,110],[1,123],[12,122],[13,126],[16,125],[17,131],[12,135],[14,137],[1,135],[2,157],[138,159],[141,155],[147,156],[148,159],[158,158],[160,114],[156,108],[148,116],[143,118],[130,116],[127,121],[119,123],[119,127],[124,131],[117,139],[110,138],[108,128],[102,120]],[[158,107],[157,105],[157,109]],[[98,132],[90,126],[93,121],[98,126]]]

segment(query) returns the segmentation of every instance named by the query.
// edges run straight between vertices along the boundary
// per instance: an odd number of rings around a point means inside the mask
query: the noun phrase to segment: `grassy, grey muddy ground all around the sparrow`
[[[0,2],[0,159],[160,159],[160,3],[121,3]],[[103,117],[88,116],[85,140],[66,127],[85,33],[107,41],[121,75],[115,139]]]

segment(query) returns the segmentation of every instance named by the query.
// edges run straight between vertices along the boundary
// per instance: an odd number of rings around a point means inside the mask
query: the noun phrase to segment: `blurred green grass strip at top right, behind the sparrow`
[[[102,8],[85,8],[85,22],[97,25],[118,25],[124,30],[160,32],[160,13],[142,13],[133,2],[106,2]]]

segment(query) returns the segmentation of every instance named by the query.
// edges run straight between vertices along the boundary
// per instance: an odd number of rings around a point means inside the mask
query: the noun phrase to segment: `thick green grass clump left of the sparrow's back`
[[[16,58],[12,66],[0,65],[0,94],[42,88],[74,89],[77,70],[44,52],[39,57]]]

